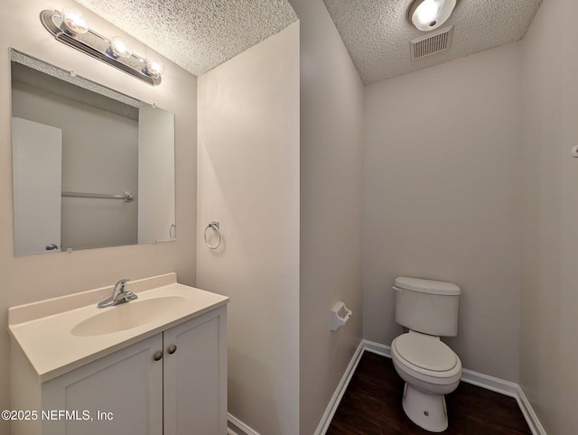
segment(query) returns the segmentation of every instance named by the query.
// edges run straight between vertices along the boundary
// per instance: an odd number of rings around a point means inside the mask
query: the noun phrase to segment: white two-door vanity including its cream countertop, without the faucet
[[[113,286],[8,310],[12,435],[227,434],[228,297],[129,285],[107,309]]]

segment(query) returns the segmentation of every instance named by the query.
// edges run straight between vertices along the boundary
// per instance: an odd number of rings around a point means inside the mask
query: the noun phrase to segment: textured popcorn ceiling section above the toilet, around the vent
[[[365,84],[390,79],[522,39],[542,0],[458,0],[452,46],[411,60],[410,41],[427,34],[409,23],[411,0],[323,0]]]

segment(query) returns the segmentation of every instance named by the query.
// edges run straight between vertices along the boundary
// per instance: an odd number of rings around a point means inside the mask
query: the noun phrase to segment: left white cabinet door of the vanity
[[[162,349],[157,334],[42,384],[43,412],[56,419],[42,419],[42,434],[162,435]]]

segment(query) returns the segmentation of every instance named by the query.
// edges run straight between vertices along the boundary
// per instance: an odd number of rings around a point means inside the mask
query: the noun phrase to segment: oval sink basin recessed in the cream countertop
[[[166,310],[184,302],[186,298],[182,296],[164,296],[103,308],[102,312],[72,328],[71,333],[77,337],[91,337],[133,329],[166,316]]]

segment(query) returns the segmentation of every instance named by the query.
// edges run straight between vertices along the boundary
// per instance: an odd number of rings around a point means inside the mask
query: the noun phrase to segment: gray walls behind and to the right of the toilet
[[[578,432],[576,14],[544,2],[522,42],[366,88],[364,337],[400,332],[396,275],[457,282],[464,366],[519,382],[561,434]]]

